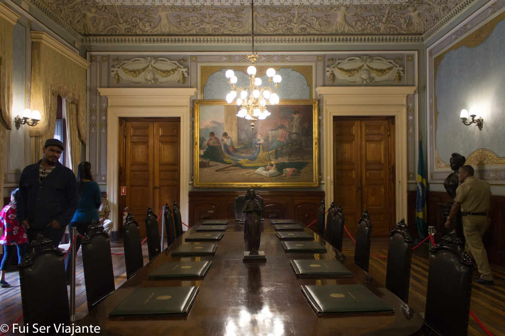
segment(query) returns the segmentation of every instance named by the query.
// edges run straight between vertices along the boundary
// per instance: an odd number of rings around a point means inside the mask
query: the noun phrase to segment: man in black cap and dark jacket
[[[58,246],[79,205],[75,174],[58,161],[64,149],[58,139],[47,139],[42,160],[21,174],[17,214],[29,242],[41,233]]]

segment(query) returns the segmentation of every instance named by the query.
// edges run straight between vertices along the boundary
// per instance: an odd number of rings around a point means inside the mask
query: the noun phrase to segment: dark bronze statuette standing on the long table
[[[243,213],[244,221],[244,240],[245,249],[243,260],[266,260],[265,252],[259,251],[261,241],[261,215],[263,209],[260,202],[255,198],[256,193],[253,189],[247,190],[245,197]]]

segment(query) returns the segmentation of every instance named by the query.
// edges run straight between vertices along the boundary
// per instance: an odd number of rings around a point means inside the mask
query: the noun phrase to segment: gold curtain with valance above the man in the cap
[[[58,95],[76,106],[74,127],[86,143],[86,68],[57,48],[65,46],[44,33],[32,32],[32,41],[31,109],[40,111],[41,120],[30,127],[30,137],[35,140],[37,161],[42,158],[45,140],[54,137]]]

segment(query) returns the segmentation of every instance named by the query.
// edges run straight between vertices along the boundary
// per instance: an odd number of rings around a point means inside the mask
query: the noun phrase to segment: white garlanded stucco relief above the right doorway
[[[330,78],[330,83],[335,80],[348,84],[400,83],[403,68],[392,59],[380,56],[351,56],[328,65],[326,75]]]

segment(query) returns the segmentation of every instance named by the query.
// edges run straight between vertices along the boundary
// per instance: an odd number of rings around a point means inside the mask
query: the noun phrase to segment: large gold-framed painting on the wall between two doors
[[[236,103],[194,104],[195,187],[318,186],[317,100],[268,105],[254,129]]]

